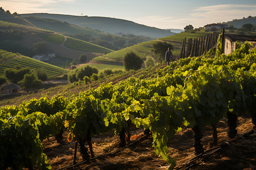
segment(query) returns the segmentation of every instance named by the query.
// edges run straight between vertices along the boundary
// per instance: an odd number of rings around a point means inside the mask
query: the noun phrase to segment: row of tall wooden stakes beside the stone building
[[[185,58],[189,56],[197,57],[203,55],[204,52],[208,52],[209,49],[213,48],[213,46],[217,44],[218,35],[218,32],[213,32],[201,38],[188,39],[188,42],[186,42],[185,38],[183,40],[179,58]]]

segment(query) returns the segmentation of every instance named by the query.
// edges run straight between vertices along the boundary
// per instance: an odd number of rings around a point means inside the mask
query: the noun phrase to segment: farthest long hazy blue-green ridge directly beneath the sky
[[[97,29],[103,32],[109,33],[130,33],[133,35],[154,37],[158,39],[160,37],[166,37],[174,35],[173,32],[166,31],[164,29],[159,29],[155,27],[148,27],[146,25],[137,24],[128,20],[106,18],[98,16],[73,16],[73,15],[60,15],[60,14],[22,14],[21,16],[37,16],[41,18],[48,19],[58,19],[63,22],[75,24],[79,27],[88,27],[92,29]]]

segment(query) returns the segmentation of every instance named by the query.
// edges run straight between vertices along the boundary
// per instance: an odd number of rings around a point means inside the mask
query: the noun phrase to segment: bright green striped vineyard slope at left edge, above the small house
[[[6,68],[14,68],[16,66],[29,67],[31,69],[46,69],[48,78],[54,78],[69,72],[69,70],[62,69],[61,67],[0,49],[0,75],[3,75],[3,71]]]

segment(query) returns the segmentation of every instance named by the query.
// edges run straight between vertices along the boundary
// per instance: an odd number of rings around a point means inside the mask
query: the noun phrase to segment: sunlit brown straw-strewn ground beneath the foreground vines
[[[222,119],[216,125],[218,131],[218,146],[225,141],[230,141],[228,137],[228,128],[226,119]],[[170,156],[176,160],[175,169],[256,169],[256,138],[255,131],[248,137],[242,137],[242,134],[253,130],[253,124],[250,117],[238,117],[238,135],[230,145],[221,148],[209,156],[208,159],[197,161],[196,165],[190,168],[183,167],[189,163],[189,160],[195,158],[193,148],[192,129],[184,129],[177,133],[174,138],[168,142]],[[131,145],[126,148],[118,149],[119,137],[109,132],[104,135],[98,135],[92,139],[94,155],[96,159],[89,163],[82,163],[75,169],[167,169],[168,164],[155,154],[152,148],[152,138],[146,138],[137,142],[143,137],[143,129],[131,128]],[[67,132],[64,136],[67,137]],[[212,142],[212,128],[206,127],[203,131],[204,137],[202,143],[205,150],[210,149]],[[67,139],[65,139],[67,142]],[[55,138],[51,137],[43,141],[46,148],[44,152],[48,156],[49,164],[52,169],[61,169],[73,164],[75,151],[75,142],[68,143],[56,148]],[[47,149],[49,148],[49,149]],[[112,154],[110,154],[112,153]],[[105,154],[105,155],[102,155]],[[200,157],[199,157],[200,158]],[[82,157],[77,149],[76,163],[82,162]],[[73,168],[69,168],[73,169]]]

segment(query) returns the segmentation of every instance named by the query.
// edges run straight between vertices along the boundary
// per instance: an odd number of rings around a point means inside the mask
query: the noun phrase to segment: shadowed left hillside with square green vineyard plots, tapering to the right
[[[78,60],[79,56],[84,53],[90,61],[99,54],[113,52],[100,45],[71,37],[63,39],[63,37],[59,33],[46,29],[0,20],[0,49],[32,57],[35,54],[31,53],[30,48],[33,44],[44,41],[47,42],[47,52],[55,53],[57,59],[61,60],[56,63],[58,66],[60,66],[59,63],[63,65],[67,60]]]

